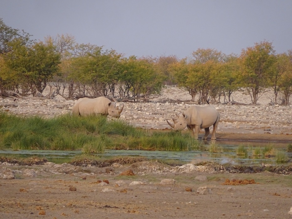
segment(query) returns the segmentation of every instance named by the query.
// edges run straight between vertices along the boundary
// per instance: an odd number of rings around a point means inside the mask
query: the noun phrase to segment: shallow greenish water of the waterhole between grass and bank
[[[210,141],[200,140],[204,146],[208,146]],[[177,163],[199,163],[202,161],[215,161],[221,164],[231,163],[233,165],[261,165],[262,163],[269,163],[276,165],[275,158],[254,158],[249,152],[248,156],[237,156],[236,149],[239,145],[244,145],[247,148],[264,147],[271,145],[278,150],[286,151],[289,142],[241,142],[241,141],[217,141],[223,147],[223,153],[210,153],[206,151],[142,151],[142,150],[105,150],[104,154],[95,154],[99,157],[110,156],[143,156],[148,159],[173,160]],[[69,163],[74,157],[81,155],[81,151],[51,151],[51,150],[0,150],[0,157],[14,156],[14,157],[45,157],[49,162],[53,163]],[[292,162],[292,153],[287,153]],[[287,165],[286,164],[286,165]]]

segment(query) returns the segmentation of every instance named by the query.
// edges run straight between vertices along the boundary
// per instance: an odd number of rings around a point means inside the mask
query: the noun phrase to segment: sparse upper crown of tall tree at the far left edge
[[[0,18],[0,54],[11,51],[11,46],[9,42],[18,39],[21,45],[29,45],[33,42],[29,38],[32,35],[29,33],[19,31],[19,29],[13,29],[12,27],[4,24],[3,19]]]

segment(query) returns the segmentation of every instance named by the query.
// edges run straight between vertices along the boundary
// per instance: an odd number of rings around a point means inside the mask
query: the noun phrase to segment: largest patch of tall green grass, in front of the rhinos
[[[102,153],[105,149],[196,150],[199,144],[189,134],[150,132],[124,120],[105,116],[69,114],[54,118],[19,117],[0,113],[0,148],[82,150]]]

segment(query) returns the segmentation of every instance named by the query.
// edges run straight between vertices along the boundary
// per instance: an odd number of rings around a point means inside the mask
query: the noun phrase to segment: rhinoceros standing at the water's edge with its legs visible
[[[188,127],[189,130],[194,129],[194,137],[198,139],[200,129],[205,129],[205,135],[202,139],[207,139],[213,125],[212,140],[216,139],[215,133],[220,120],[219,112],[213,106],[191,106],[183,115],[178,116],[178,119],[173,119],[174,125],[167,121],[174,130],[184,130]]]

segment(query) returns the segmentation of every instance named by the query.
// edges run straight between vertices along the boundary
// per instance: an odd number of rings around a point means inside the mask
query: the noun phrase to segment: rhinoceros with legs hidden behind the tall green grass
[[[119,109],[119,106],[116,106],[106,97],[94,99],[85,97],[77,100],[72,108],[72,114],[82,116],[101,114],[119,118],[123,109],[124,105]]]

